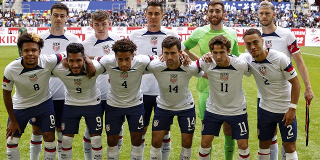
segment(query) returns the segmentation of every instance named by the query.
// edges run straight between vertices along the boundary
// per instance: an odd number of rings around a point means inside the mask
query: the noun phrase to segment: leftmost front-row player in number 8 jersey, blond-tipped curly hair
[[[22,34],[17,45],[22,56],[5,67],[2,82],[3,101],[9,114],[6,129],[7,158],[20,159],[18,142],[31,119],[43,133],[43,159],[55,159],[56,121],[48,81],[53,67],[65,55],[40,54],[43,39],[35,33]],[[11,97],[13,84],[15,92]]]

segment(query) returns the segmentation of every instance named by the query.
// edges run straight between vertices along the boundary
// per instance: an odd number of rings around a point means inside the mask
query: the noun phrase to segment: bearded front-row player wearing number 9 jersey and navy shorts
[[[52,74],[62,80],[65,85],[65,100],[61,117],[62,144],[61,158],[72,159],[72,141],[74,134],[78,133],[79,122],[83,116],[88,126],[92,144],[91,159],[102,159],[102,109],[100,90],[96,78],[86,76],[84,66],[84,48],[80,43],[70,43],[66,46],[66,55],[69,68],[62,64],[57,65]],[[96,74],[105,71],[96,60],[92,60]]]

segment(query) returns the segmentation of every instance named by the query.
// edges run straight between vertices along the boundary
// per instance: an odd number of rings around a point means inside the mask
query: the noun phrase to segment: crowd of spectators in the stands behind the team
[[[17,14],[13,9],[0,9],[0,27],[17,27],[21,21],[24,26],[50,26],[50,10],[36,10],[32,13]],[[66,26],[88,26],[91,21],[91,13],[94,10],[77,11],[70,9]],[[110,14],[111,26],[144,26],[146,18],[143,9],[123,7],[119,10],[107,10]],[[189,10],[178,11],[177,9],[164,9],[162,25],[164,26],[203,26],[209,22],[206,20],[206,11]],[[287,12],[276,10],[274,22],[282,27],[294,28],[320,28],[318,11],[288,10]],[[227,11],[223,19],[226,26],[261,26],[257,12],[251,10]]]

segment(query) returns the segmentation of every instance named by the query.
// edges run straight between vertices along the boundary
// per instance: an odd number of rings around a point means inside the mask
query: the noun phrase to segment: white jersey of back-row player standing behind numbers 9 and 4
[[[111,31],[108,31],[108,35],[109,36],[104,40],[97,39],[94,34],[85,38],[82,42],[84,47],[84,53],[87,56],[103,56],[105,54],[114,54],[114,51],[111,49],[112,44],[114,44],[115,41],[119,40],[120,36],[112,33]],[[100,74],[96,78],[98,87],[101,92],[101,100],[106,100],[106,93],[110,89],[108,79],[108,74]]]

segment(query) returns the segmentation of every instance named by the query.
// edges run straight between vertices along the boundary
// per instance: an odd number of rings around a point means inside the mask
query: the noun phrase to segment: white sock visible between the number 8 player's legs
[[[42,135],[31,134],[30,140],[30,159],[39,159],[42,149]]]

